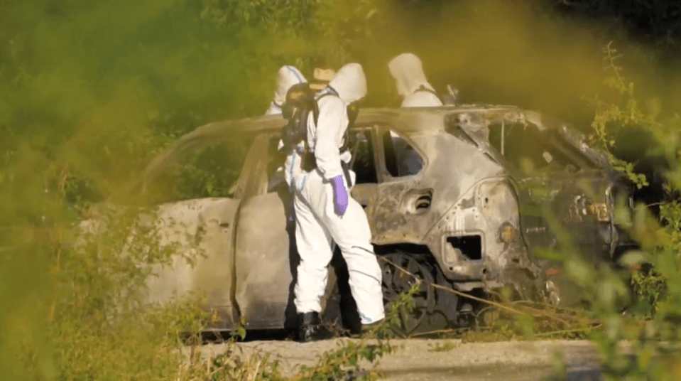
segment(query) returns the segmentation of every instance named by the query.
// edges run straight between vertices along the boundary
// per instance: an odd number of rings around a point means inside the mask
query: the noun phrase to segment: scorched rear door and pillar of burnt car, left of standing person
[[[238,191],[243,198],[234,241],[234,299],[246,329],[292,328],[295,324],[295,247],[293,225],[287,222],[292,195],[288,187],[273,191],[268,187],[269,164],[278,159],[270,146],[276,132],[258,132],[251,157],[242,168],[244,176],[239,178]],[[285,274],[289,271],[290,276]]]

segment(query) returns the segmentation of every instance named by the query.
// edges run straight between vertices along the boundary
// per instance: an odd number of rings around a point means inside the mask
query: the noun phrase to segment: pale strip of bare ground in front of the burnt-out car
[[[293,375],[301,365],[315,365],[322,353],[338,348],[346,340],[349,339],[305,344],[266,340],[239,343],[238,347],[242,356],[269,355],[271,360],[280,362],[284,375]],[[562,353],[565,359],[567,380],[599,380],[596,348],[584,340],[461,343],[460,340],[405,339],[391,340],[391,343],[399,349],[376,365],[384,380],[543,380],[552,374],[555,353]],[[212,358],[224,353],[226,348],[226,344],[208,344],[199,350],[203,358]]]

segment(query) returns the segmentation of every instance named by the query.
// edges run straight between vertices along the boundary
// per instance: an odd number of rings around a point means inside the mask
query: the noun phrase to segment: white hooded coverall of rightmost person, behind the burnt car
[[[412,53],[402,53],[388,63],[388,69],[395,78],[397,92],[403,97],[402,107],[439,107],[442,101],[425,79],[421,60]],[[398,163],[399,176],[408,176],[421,170],[418,154],[407,149],[406,142],[391,132],[393,149]]]

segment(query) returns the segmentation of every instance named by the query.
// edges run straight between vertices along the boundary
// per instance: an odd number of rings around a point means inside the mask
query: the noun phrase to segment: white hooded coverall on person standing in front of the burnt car
[[[307,142],[315,153],[317,168],[300,169],[300,155],[293,159],[295,195],[295,239],[300,254],[295,308],[298,313],[320,312],[320,301],[328,279],[327,266],[332,258],[332,241],[341,249],[349,272],[349,285],[363,324],[383,319],[381,268],[378,266],[371,230],[364,209],[352,197],[344,215],[334,209],[332,178],[343,175],[341,160],[348,163],[349,151],[342,155],[339,146],[348,126],[347,105],[366,95],[366,77],[358,63],[344,65],[329,82],[338,93],[319,99],[317,125],[308,118]],[[330,92],[327,87],[317,94]],[[300,147],[300,146],[299,146]],[[351,171],[352,172],[352,171]],[[351,173],[354,183],[354,173]],[[350,190],[343,176],[348,194]]]

